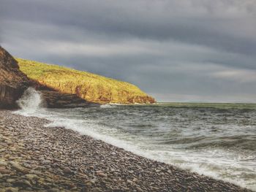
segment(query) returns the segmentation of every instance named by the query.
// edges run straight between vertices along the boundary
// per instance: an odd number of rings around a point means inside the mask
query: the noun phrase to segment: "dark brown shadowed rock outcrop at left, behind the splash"
[[[41,85],[35,80],[29,79],[20,71],[15,58],[0,47],[0,109],[18,108],[17,100],[29,86],[41,92],[45,107],[72,108],[97,106],[89,101],[80,99],[75,94],[59,93],[52,88]]]

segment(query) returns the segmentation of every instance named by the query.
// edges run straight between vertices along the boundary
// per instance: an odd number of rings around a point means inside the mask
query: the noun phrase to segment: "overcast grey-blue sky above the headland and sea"
[[[0,0],[0,45],[157,101],[256,102],[255,0]]]

